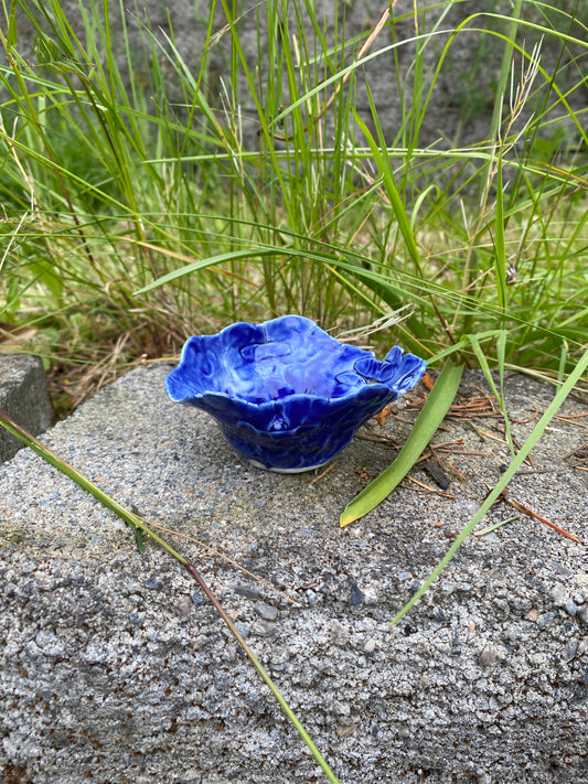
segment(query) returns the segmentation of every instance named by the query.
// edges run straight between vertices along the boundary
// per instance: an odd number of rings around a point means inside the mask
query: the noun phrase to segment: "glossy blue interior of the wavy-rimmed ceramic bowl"
[[[165,387],[174,400],[210,394],[255,405],[298,395],[332,400],[378,382],[394,389],[399,385],[403,394],[400,387],[413,370],[400,348],[379,362],[372,352],[340,343],[309,319],[289,315],[190,337]]]

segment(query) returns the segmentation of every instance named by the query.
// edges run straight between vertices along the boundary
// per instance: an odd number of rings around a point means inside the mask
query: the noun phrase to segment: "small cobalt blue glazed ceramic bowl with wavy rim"
[[[425,367],[398,346],[379,362],[309,319],[282,315],[189,337],[165,391],[212,415],[254,465],[293,473],[334,458]]]

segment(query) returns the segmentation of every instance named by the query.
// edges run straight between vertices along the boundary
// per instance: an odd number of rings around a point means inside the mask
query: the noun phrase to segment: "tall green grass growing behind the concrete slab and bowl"
[[[517,0],[512,17],[472,3],[451,29],[452,6],[370,43],[342,22],[333,40],[310,1],[272,0],[252,53],[222,0],[196,20],[197,57],[143,21],[135,53],[122,25],[119,68],[120,22],[100,21],[111,4],[81,3],[74,22],[56,0],[4,0],[1,334],[95,372],[236,319],[299,312],[336,331],[411,303],[378,347],[435,362],[461,342],[475,365],[463,339],[505,330],[507,367],[569,370],[588,340],[586,25],[574,3]],[[424,146],[463,35],[499,57],[494,111],[477,143]],[[389,56],[394,138],[364,76]],[[493,341],[483,348],[492,361]]]

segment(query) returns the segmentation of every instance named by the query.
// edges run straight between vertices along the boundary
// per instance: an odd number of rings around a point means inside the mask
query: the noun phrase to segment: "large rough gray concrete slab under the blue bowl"
[[[341,530],[340,512],[389,463],[392,442],[355,439],[313,484],[312,474],[254,470],[206,415],[167,400],[167,369],[129,373],[43,440],[118,501],[299,603],[167,535],[342,784],[588,782],[584,545],[526,516],[470,537],[406,620],[388,625],[507,462],[494,440],[500,417],[471,407],[438,432],[452,444],[439,455],[455,497],[407,481]],[[473,406],[480,386],[468,376],[462,402]],[[506,389],[523,441],[553,393],[522,376]],[[577,400],[564,409],[587,411]],[[400,443],[409,426],[399,418],[414,416],[404,408],[363,436]],[[554,420],[535,468],[511,484],[512,497],[582,543],[588,477],[565,455],[588,441],[587,423]],[[131,531],[29,450],[0,466],[0,485],[2,782],[324,781],[180,566],[150,544],[139,555]],[[498,504],[482,525],[513,514]]]

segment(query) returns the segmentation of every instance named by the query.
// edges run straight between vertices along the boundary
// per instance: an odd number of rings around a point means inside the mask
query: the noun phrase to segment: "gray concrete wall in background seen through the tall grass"
[[[302,3],[298,4],[302,6]],[[575,4],[571,0],[563,0],[558,6],[562,11],[571,12]],[[62,6],[67,10],[74,29],[79,31],[81,21],[77,0],[66,0]],[[329,0],[317,0],[316,6],[318,19],[324,24],[327,39],[330,42],[335,40],[335,26],[339,31],[343,26],[345,28],[348,40],[361,33],[367,34],[386,8],[386,3],[383,0],[362,0],[361,2],[360,0],[348,2],[341,0],[339,3],[333,3]],[[418,2],[419,8],[424,6],[423,2]],[[164,46],[165,33],[169,33],[170,29],[173,30],[178,51],[194,73],[197,73],[204,52],[210,7],[210,0],[177,0],[175,2],[147,0],[145,7],[141,6],[140,9],[137,9],[135,3],[125,3],[126,24],[129,36],[133,42],[133,56],[137,57],[137,63],[139,64],[139,74],[141,67],[145,68],[146,78],[149,74],[149,65],[140,65],[141,50],[146,45],[145,24],[148,20],[151,29],[159,31],[157,33],[158,37]],[[264,40],[267,37],[266,8],[267,3],[264,2],[257,6],[255,3],[238,3],[239,15],[236,24],[239,41],[243,44],[249,64],[259,64],[261,68],[264,66],[263,62],[259,63],[258,41],[263,45]],[[290,21],[293,25],[293,4],[291,2],[288,3],[288,8]],[[394,31],[396,40],[409,41],[414,37],[415,21],[411,17],[413,9],[413,0],[398,0],[394,9],[394,18],[398,20],[395,22]],[[500,33],[506,32],[504,23],[493,20],[489,17],[490,13],[509,15],[511,6],[502,0],[491,0],[490,2],[471,0],[471,2],[455,2],[449,6],[449,9],[441,8],[427,12],[426,22],[425,18],[419,15],[420,32],[423,32],[425,24],[428,31],[432,30],[435,25],[439,25],[438,35],[430,40],[426,49],[426,74],[430,74],[436,68],[440,54],[450,37],[450,32],[464,20],[471,18],[471,21],[466,25],[466,30],[461,31],[452,43],[437,79],[420,131],[419,144],[421,147],[428,146],[434,141],[438,141],[442,147],[448,147],[457,143],[458,139],[460,143],[475,143],[482,141],[488,135],[504,42],[498,35],[487,34],[481,32],[480,29],[488,26]],[[541,23],[542,20],[538,17],[532,19],[533,13],[536,14],[536,11],[533,11],[531,4],[525,4],[523,19]],[[109,14],[114,30],[120,31],[120,34],[113,40],[113,49],[117,52],[118,60],[124,68],[126,54],[122,26],[118,15],[118,2],[109,3]],[[584,11],[580,9],[581,14],[588,17],[586,3],[584,3]],[[303,22],[310,32],[310,18],[303,20]],[[210,68],[204,85],[207,97],[213,105],[220,104],[221,78],[223,77],[225,82],[229,78],[231,36],[229,34],[222,34],[225,25],[226,18],[218,2],[214,20],[214,30],[215,33],[218,33],[218,40],[210,55]],[[566,25],[564,15],[560,17],[559,25],[562,28]],[[28,36],[31,35],[25,20],[20,22],[20,35],[21,42],[26,41]],[[539,34],[534,34],[530,29],[523,28],[521,30],[520,42],[524,42],[526,51],[532,50],[534,41],[538,37]],[[388,25],[379,34],[372,51],[383,49],[392,40],[393,33]],[[352,62],[357,49],[357,44],[349,46],[346,63]],[[554,65],[562,54],[559,45],[557,41],[553,40],[553,36],[547,36],[544,40],[542,52],[542,63],[547,69]],[[410,67],[414,58],[414,43],[406,43],[399,46],[396,53],[400,64],[400,75],[406,82],[409,95],[414,76]],[[563,73],[569,73],[570,79],[578,80],[577,71],[573,67],[566,67],[570,65],[571,54],[564,53],[560,66]],[[162,60],[164,61],[164,57]],[[169,83],[167,84],[167,90],[173,96],[174,78],[171,66],[168,69]],[[392,52],[372,60],[357,72],[356,107],[361,115],[370,118],[367,95],[364,87],[365,80],[368,82],[374,94],[378,117],[387,138],[393,140],[402,125],[403,100],[398,93]],[[247,95],[246,85],[240,84],[239,89],[242,93],[239,103],[242,104],[243,116],[252,118],[249,122],[245,120],[245,138],[249,143],[255,143],[258,130],[258,125],[255,121],[255,107]],[[586,103],[586,94],[575,94],[571,96],[571,101],[580,105]],[[405,99],[405,111],[408,105],[409,99]]]

